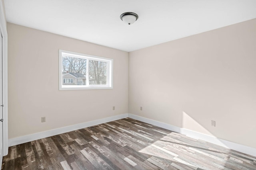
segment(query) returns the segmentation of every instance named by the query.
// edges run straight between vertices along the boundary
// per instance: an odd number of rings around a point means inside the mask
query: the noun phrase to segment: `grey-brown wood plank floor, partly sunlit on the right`
[[[256,157],[126,118],[9,147],[2,170],[256,170]]]

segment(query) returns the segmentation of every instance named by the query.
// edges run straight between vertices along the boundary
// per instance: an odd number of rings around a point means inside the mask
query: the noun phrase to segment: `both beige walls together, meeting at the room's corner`
[[[9,139],[128,112],[256,148],[255,30],[256,19],[245,21],[128,60],[124,51],[8,23]],[[58,49],[113,58],[114,89],[59,91]]]

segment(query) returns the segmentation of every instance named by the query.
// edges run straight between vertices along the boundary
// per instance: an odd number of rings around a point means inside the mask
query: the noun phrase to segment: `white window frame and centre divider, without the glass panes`
[[[87,59],[86,61],[86,85],[63,85],[62,80],[62,55]],[[90,85],[89,84],[89,61],[102,61],[107,63],[106,84],[104,85]],[[59,90],[88,90],[88,89],[112,89],[113,88],[113,59],[98,57],[94,55],[87,55],[76,53],[72,51],[59,50]]]

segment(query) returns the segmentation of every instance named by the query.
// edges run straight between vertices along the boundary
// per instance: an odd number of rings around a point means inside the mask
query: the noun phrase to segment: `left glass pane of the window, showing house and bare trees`
[[[86,59],[62,56],[63,85],[86,85]],[[80,81],[79,81],[80,80]]]

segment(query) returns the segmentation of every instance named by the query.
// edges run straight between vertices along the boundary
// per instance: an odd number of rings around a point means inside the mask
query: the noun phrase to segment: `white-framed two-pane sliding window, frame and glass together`
[[[113,88],[113,59],[59,50],[59,90]]]

